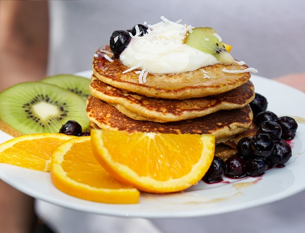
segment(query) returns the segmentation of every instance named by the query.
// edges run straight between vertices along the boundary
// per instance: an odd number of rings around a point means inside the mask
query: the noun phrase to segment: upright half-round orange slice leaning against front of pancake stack
[[[95,157],[113,177],[154,193],[180,191],[197,183],[215,150],[212,135],[93,129],[91,138]]]

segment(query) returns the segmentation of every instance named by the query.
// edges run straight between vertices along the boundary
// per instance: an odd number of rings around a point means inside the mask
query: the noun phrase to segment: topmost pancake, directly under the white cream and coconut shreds
[[[101,49],[110,51],[109,46]],[[99,80],[119,89],[148,97],[187,99],[216,95],[241,86],[251,77],[249,72],[233,74],[223,72],[223,69],[245,70],[248,68],[246,64],[215,64],[180,74],[148,74],[147,82],[140,84],[136,70],[123,74],[129,68],[121,64],[117,58],[113,58],[111,62],[104,57],[111,55],[100,50],[96,53],[98,57],[94,57],[93,60],[93,73]]]

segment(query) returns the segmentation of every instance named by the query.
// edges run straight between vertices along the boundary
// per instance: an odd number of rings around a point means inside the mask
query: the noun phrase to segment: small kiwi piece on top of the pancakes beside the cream
[[[211,27],[195,27],[193,32],[188,34],[185,43],[215,56],[221,63],[232,64],[234,61],[217,32]]]

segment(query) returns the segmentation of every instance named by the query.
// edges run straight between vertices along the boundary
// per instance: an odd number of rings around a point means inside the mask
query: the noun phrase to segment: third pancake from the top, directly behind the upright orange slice
[[[253,114],[249,105],[234,110],[221,110],[194,119],[158,123],[137,121],[94,96],[87,99],[87,117],[102,129],[126,132],[162,132],[164,134],[212,134],[216,139],[229,137],[247,130]]]

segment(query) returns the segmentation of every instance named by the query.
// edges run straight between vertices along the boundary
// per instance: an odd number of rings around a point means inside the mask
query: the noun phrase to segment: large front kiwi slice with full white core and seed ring
[[[59,132],[68,120],[89,126],[86,102],[79,95],[41,82],[24,82],[0,93],[0,120],[23,135]]]

